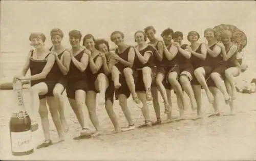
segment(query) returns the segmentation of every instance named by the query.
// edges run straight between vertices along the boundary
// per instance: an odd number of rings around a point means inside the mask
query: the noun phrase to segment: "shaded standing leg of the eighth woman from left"
[[[152,97],[153,97],[153,106],[154,106],[154,110],[155,110],[156,118],[157,118],[157,121],[154,122],[152,125],[159,125],[162,123],[162,121],[161,121],[160,105],[158,102],[158,88],[155,86],[152,86],[151,93],[152,93]]]

